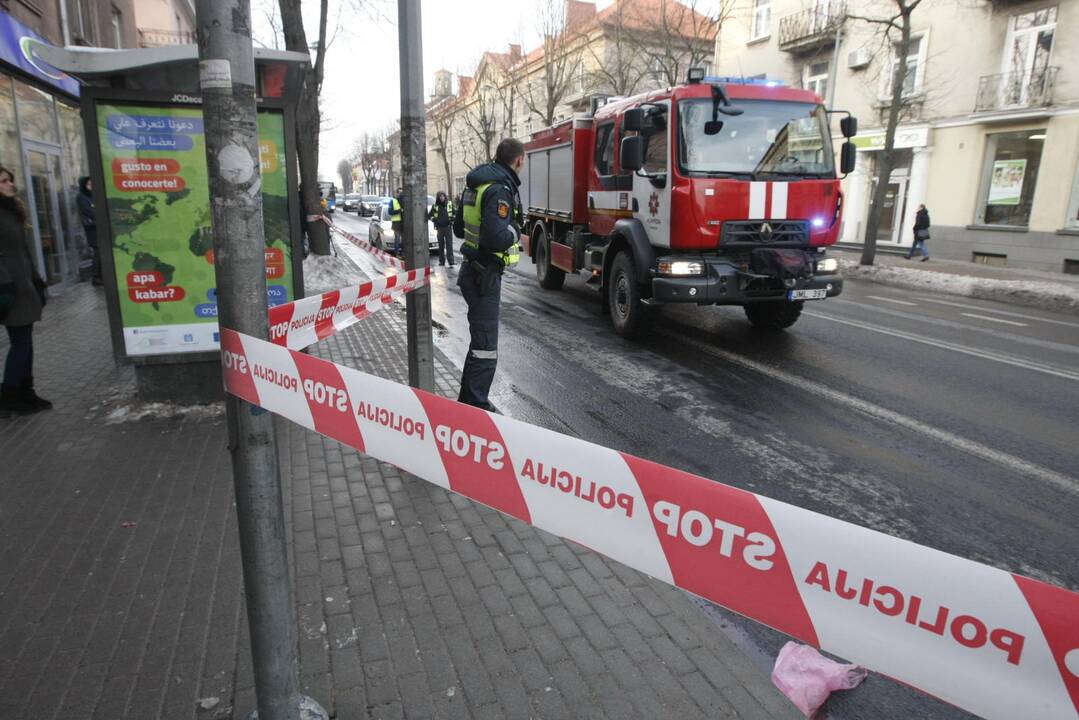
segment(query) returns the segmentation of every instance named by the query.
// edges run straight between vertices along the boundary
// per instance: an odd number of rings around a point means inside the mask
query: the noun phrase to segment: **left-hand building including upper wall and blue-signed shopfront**
[[[79,83],[36,58],[27,38],[134,47],[134,2],[0,1],[0,165],[15,175],[29,210],[39,272],[63,287],[90,261],[74,202],[79,178],[88,175]]]

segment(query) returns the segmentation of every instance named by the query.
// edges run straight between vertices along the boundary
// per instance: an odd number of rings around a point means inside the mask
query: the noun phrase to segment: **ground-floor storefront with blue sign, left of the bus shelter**
[[[77,283],[90,252],[76,206],[87,175],[79,83],[35,57],[44,40],[0,11],[0,165],[30,214],[38,269],[50,285]]]

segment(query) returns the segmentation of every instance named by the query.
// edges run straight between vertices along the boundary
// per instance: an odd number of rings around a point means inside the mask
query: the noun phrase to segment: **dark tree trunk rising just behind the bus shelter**
[[[282,29],[285,33],[285,49],[308,53],[308,33],[303,29],[303,13],[301,0],[279,0]],[[326,68],[326,15],[329,0],[319,0],[318,9],[318,44],[315,47],[314,63],[304,67],[303,85],[296,105],[296,150],[300,162],[300,191],[303,199],[302,213],[306,216],[320,215],[322,205],[318,200],[318,131],[322,112],[318,107],[318,95],[323,89],[323,74]],[[323,222],[309,222],[308,235],[311,252],[316,255],[329,255],[329,228]]]

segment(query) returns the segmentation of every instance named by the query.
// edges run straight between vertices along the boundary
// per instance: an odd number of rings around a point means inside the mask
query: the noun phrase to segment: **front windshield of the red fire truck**
[[[807,103],[739,100],[740,116],[720,116],[705,134],[712,101],[679,103],[679,168],[689,176],[793,179],[835,177],[824,108]]]

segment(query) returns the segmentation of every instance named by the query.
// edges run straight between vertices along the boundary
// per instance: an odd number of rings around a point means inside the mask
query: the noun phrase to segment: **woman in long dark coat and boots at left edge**
[[[45,282],[26,242],[26,207],[15,196],[15,175],[0,166],[0,323],[11,348],[0,385],[0,412],[24,415],[53,406],[33,392],[33,324],[45,305]]]

